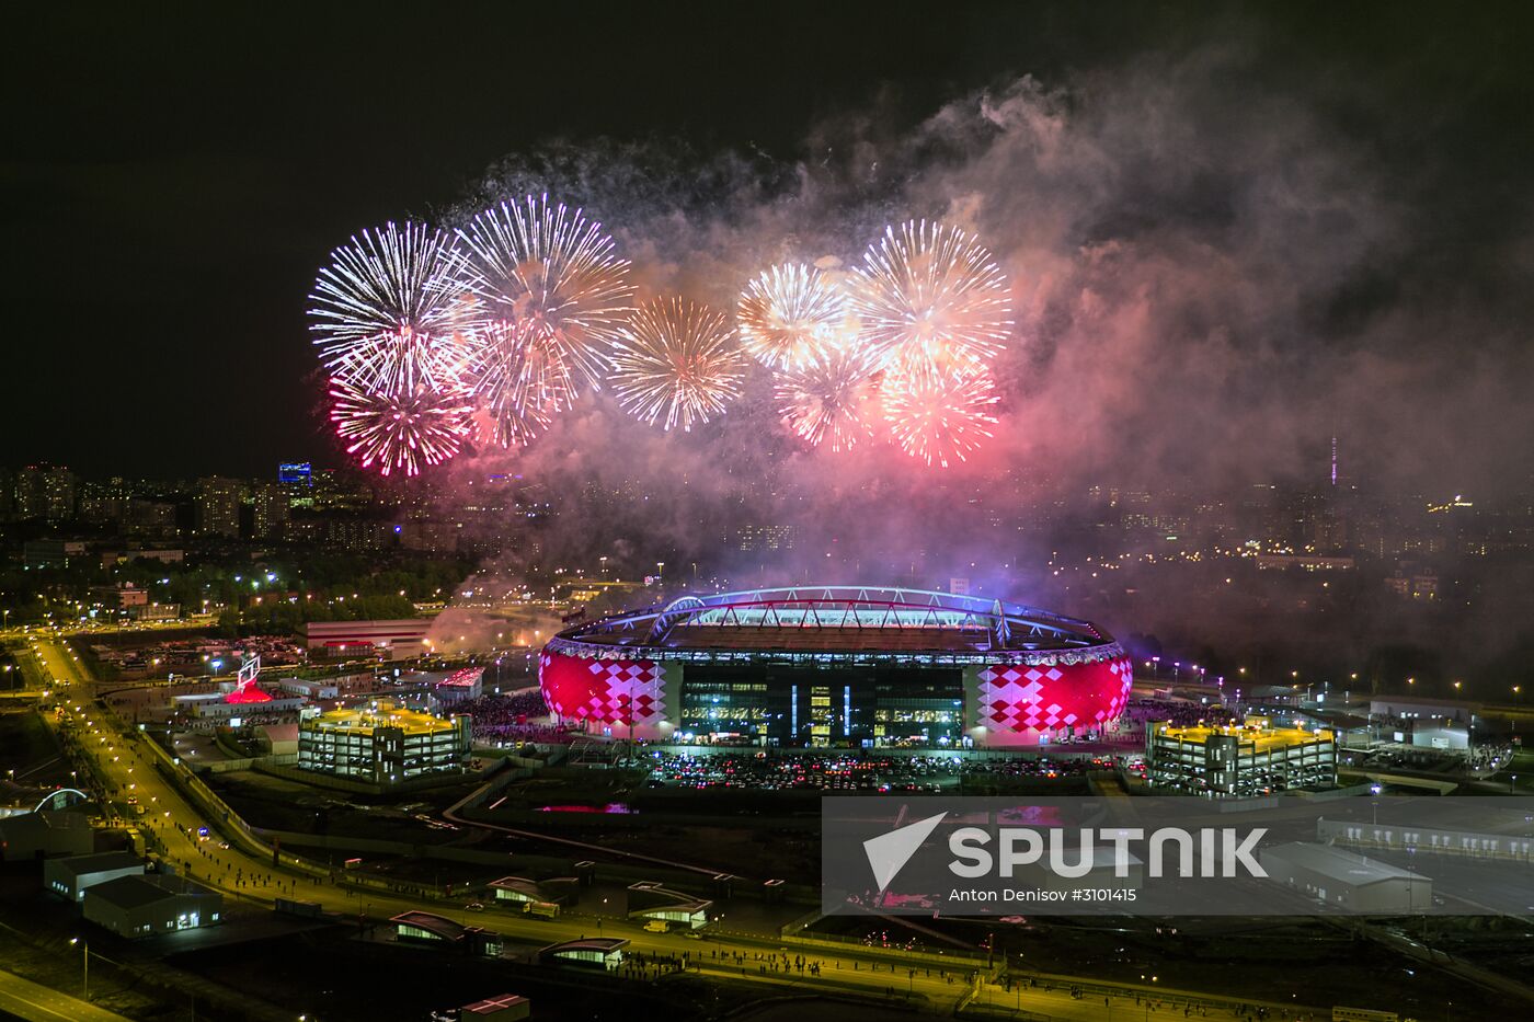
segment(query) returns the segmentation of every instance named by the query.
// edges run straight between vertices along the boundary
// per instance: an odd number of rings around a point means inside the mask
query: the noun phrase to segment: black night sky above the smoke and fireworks
[[[1230,46],[1241,87],[1293,94],[1442,196],[1417,227],[1457,293],[1508,288],[1485,253],[1528,232],[1528,5],[138,6],[8,15],[0,463],[333,462],[304,316],[327,252],[555,138],[793,161],[848,112],[897,129],[1003,78]]]

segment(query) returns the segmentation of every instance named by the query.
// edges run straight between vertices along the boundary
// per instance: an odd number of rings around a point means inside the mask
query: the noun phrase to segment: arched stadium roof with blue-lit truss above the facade
[[[1112,635],[1091,621],[1002,600],[893,586],[684,595],[575,625],[558,638],[657,652],[1071,652],[1112,643]]]

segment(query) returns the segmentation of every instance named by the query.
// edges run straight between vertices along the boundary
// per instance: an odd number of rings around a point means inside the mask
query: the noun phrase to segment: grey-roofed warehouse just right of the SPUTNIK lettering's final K
[[[1433,907],[1431,878],[1325,844],[1279,844],[1258,850],[1275,884],[1350,912],[1404,915]]]

